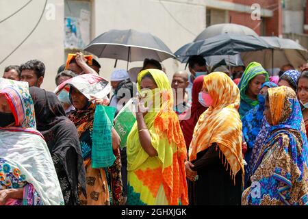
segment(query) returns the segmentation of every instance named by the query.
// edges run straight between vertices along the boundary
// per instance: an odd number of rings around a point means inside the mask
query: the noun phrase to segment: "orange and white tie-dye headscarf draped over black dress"
[[[207,88],[213,104],[199,118],[190,144],[190,161],[196,159],[198,152],[216,143],[224,155],[223,164],[230,165],[230,175],[235,175],[244,164],[242,157],[242,122],[238,107],[240,90],[225,73],[211,73],[204,77],[203,88]],[[227,167],[228,168],[228,167]]]

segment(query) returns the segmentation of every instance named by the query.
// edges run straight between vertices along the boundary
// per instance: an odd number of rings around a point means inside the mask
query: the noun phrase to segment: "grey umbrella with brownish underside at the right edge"
[[[295,68],[307,62],[307,49],[294,40],[279,38],[277,36],[261,37],[274,49],[251,51],[242,53],[245,64],[259,62],[264,68],[280,68],[285,64],[292,64]]]

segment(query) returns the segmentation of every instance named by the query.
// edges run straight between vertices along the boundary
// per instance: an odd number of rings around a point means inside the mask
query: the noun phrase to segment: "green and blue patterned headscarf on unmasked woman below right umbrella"
[[[240,109],[239,109],[241,116],[244,116],[246,112],[251,110],[253,107],[258,105],[259,103],[259,101],[254,101],[246,95],[249,82],[251,82],[251,80],[255,78],[257,75],[265,75],[266,82],[268,81],[268,73],[261,66],[261,64],[259,64],[258,62],[251,62],[250,64],[248,64],[246,70],[244,71],[244,74],[242,75],[240,83],[238,84],[238,87],[240,88],[240,94],[241,94],[241,104],[240,104]]]

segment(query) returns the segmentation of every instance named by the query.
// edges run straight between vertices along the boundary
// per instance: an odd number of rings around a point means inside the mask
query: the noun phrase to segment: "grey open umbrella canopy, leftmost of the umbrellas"
[[[145,58],[162,62],[175,57],[159,38],[133,29],[107,31],[92,40],[84,50],[97,57],[127,62],[143,61]]]

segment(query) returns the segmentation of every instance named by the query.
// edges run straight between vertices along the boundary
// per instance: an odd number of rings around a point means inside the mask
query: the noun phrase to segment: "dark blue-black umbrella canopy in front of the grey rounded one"
[[[175,52],[177,57],[190,55],[236,55],[244,51],[257,51],[261,49],[272,49],[263,39],[258,36],[240,36],[235,34],[220,34],[208,38],[185,44]]]

